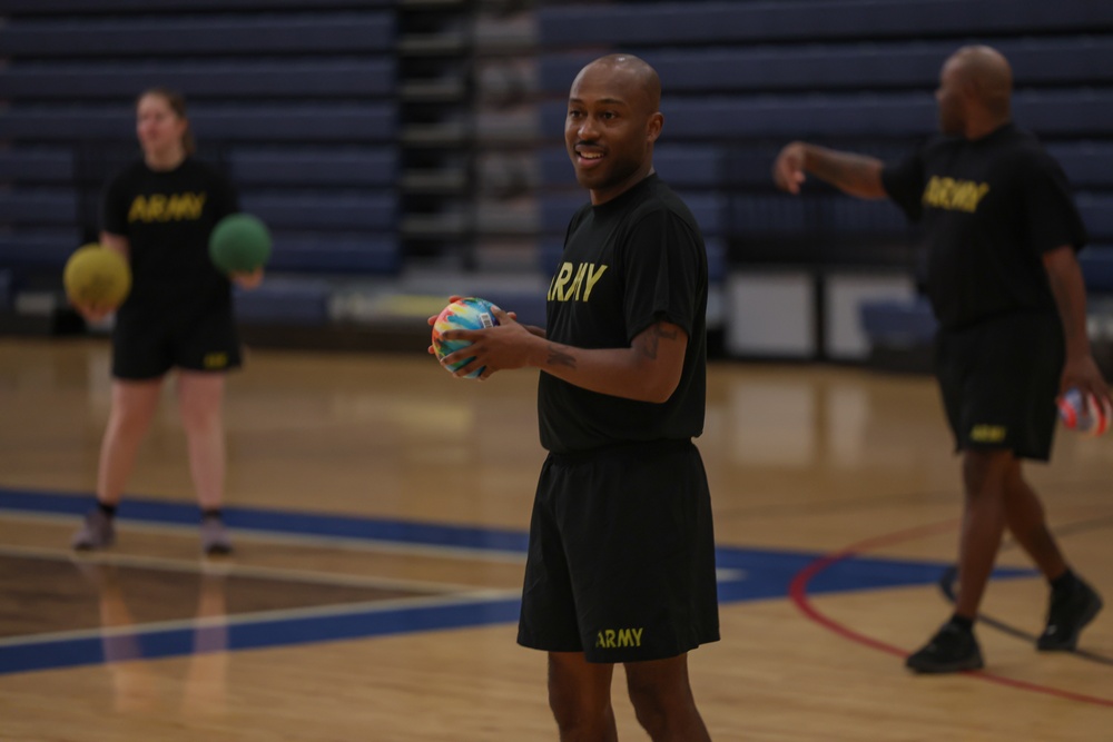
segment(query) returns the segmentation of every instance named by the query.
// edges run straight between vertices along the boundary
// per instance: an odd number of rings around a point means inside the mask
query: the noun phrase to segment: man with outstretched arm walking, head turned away
[[[1109,388],[1086,335],[1075,255],[1085,228],[1062,168],[1012,122],[1012,82],[996,50],[964,47],[935,93],[942,136],[904,161],[792,142],[774,165],[791,194],[810,172],[851,196],[892,198],[925,225],[936,375],[965,507],[954,614],[906,661],[923,673],[983,666],[973,626],[1006,527],[1051,584],[1040,650],[1073,650],[1102,607],[1067,566],[1021,472],[1022,459],[1051,456],[1056,394],[1076,387],[1109,399]]]

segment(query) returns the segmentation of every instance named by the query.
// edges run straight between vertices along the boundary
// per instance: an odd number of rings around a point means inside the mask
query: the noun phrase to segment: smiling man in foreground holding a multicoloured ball
[[[591,202],[572,217],[546,328],[450,330],[465,376],[534,367],[542,445],[519,643],[549,653],[564,742],[618,739],[615,663],[657,742],[709,740],[688,652],[719,639],[703,428],[707,253],[653,170],[657,72],[628,55],[580,71],[564,139]],[[430,318],[430,323],[435,318]]]

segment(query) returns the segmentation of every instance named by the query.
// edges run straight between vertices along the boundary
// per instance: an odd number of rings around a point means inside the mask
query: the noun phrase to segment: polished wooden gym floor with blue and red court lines
[[[0,339],[0,740],[556,739],[544,655],[514,643],[535,373],[250,353],[225,410],[228,558],[198,553],[173,382],[117,545],[70,552],[108,382],[102,339]],[[691,666],[713,739],[1113,740],[1113,611],[1080,652],[1035,652],[1046,592],[1009,544],[986,671],[905,672],[949,613],[959,512],[930,379],[716,364],[698,445],[722,641]],[[1111,467],[1113,437],[1066,432],[1028,466],[1106,598]],[[620,738],[646,739],[621,672],[614,699]]]

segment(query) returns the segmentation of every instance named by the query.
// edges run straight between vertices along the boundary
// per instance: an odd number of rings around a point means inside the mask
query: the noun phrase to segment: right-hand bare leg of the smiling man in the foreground
[[[627,687],[653,742],[710,742],[688,680],[688,655],[628,662]]]

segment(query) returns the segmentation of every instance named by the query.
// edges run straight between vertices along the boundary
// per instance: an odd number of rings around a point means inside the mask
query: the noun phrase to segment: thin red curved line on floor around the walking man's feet
[[[833,564],[837,564],[844,560],[848,560],[858,554],[868,552],[874,548],[879,548],[881,546],[890,546],[893,544],[899,544],[907,541],[914,541],[924,536],[935,535],[937,533],[945,533],[947,531],[953,531],[957,526],[957,521],[946,521],[943,523],[933,523],[926,526],[920,526],[917,528],[908,528],[906,531],[898,531],[896,533],[886,534],[881,536],[875,536],[873,538],[867,538],[860,541],[857,544],[851,544],[846,548],[833,552],[818,560],[811,562],[802,570],[800,570],[794,577],[789,585],[788,594],[792,598],[792,603],[796,607],[800,610],[804,615],[806,615],[811,621],[818,623],[820,626],[838,634],[843,639],[847,639],[851,642],[868,646],[880,652],[886,652],[898,657],[905,657],[908,652],[902,650],[898,646],[892,644],[886,644],[879,640],[871,636],[867,636],[859,632],[849,629],[848,626],[835,621],[828,615],[819,612],[816,606],[811,604],[808,598],[808,583],[811,580],[827,570]],[[1073,691],[1066,691],[1060,687],[1051,687],[1048,685],[1040,685],[1036,683],[1028,683],[1023,680],[1016,680],[1014,677],[1005,677],[1003,675],[994,675],[993,673],[985,672],[984,670],[965,671],[964,675],[974,677],[977,680],[984,680],[991,683],[996,683],[998,685],[1006,685],[1008,687],[1015,687],[1022,691],[1030,691],[1032,693],[1043,693],[1044,695],[1051,695],[1058,699],[1066,699],[1070,701],[1078,701],[1080,703],[1090,703],[1099,706],[1107,706],[1113,709],[1113,699],[1102,699],[1094,695],[1085,695],[1083,693],[1074,693]]]

